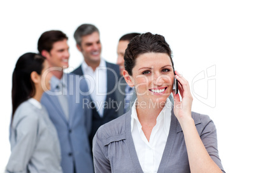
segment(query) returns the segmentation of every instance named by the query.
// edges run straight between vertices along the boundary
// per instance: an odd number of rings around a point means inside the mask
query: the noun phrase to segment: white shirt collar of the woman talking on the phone
[[[134,122],[136,122],[136,125],[138,126],[139,129],[141,129],[141,123],[139,122],[138,114],[136,111],[136,101],[134,101],[134,104],[132,106],[132,114],[131,114],[131,131],[133,130],[134,127]],[[164,132],[166,135],[169,134],[169,129],[171,125],[171,109],[173,107],[173,103],[169,98],[166,100],[166,104],[164,105],[164,108],[162,111],[160,111],[159,116],[157,116],[157,123],[160,123],[161,120],[163,120],[163,125],[164,125]]]

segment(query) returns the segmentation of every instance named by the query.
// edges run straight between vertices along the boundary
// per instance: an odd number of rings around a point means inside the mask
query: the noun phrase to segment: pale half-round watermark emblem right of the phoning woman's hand
[[[216,106],[216,65],[201,71],[192,80],[194,97],[210,107]]]

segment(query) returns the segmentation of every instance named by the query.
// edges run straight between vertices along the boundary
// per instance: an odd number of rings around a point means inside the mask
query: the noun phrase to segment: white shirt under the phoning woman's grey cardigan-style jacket
[[[157,123],[152,129],[150,141],[148,142],[138,119],[136,105],[134,104],[132,106],[132,139],[139,158],[139,163],[145,173],[157,172],[159,168],[171,126],[171,107],[172,103],[169,98],[167,98],[164,108],[159,116],[157,116]]]

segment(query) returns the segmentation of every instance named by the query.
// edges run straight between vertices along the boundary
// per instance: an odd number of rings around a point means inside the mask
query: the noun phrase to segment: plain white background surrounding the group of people
[[[37,52],[39,36],[58,29],[68,35],[69,64],[77,67],[83,59],[73,33],[84,23],[99,28],[102,56],[113,63],[123,34],[150,31],[165,36],[176,70],[194,86],[193,111],[215,122],[225,171],[255,171],[255,9],[253,1],[224,0],[1,1],[0,172],[10,155],[11,75],[18,57]],[[206,75],[192,83],[208,67],[211,80]]]

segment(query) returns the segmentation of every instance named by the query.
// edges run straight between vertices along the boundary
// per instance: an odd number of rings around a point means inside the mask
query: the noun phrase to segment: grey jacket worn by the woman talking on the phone
[[[225,172],[218,156],[217,132],[213,121],[207,115],[194,112],[192,118],[209,155],[222,172]],[[94,136],[92,151],[96,173],[143,172],[132,140],[131,110],[99,128]],[[183,132],[173,111],[166,148],[158,172],[190,172]]]

